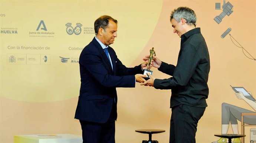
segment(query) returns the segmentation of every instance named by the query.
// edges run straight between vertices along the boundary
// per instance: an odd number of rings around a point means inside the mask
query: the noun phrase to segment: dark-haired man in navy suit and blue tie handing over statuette
[[[143,83],[146,62],[125,67],[109,45],[117,37],[117,20],[103,15],[94,22],[96,36],[79,57],[81,88],[75,119],[82,127],[83,143],[115,143],[116,87]]]

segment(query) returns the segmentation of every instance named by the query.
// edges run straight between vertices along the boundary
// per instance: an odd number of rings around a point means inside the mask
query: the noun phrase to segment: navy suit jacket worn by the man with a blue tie
[[[75,119],[96,123],[107,122],[113,104],[116,107],[116,87],[135,87],[134,75],[142,74],[140,65],[133,68],[125,67],[117,58],[114,49],[108,46],[108,51],[113,70],[108,57],[95,38],[81,52],[81,87]]]

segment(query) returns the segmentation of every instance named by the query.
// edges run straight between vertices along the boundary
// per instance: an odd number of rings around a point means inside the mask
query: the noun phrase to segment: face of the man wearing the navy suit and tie
[[[117,31],[117,24],[114,21],[109,20],[108,27],[102,31],[104,45],[108,46],[108,45],[114,43],[115,37],[117,37],[116,31]]]

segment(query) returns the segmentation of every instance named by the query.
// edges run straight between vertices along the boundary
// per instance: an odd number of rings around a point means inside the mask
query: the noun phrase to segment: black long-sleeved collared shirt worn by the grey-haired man
[[[200,28],[194,28],[181,35],[177,65],[162,62],[158,70],[173,76],[154,81],[156,89],[171,89],[171,108],[181,104],[207,107],[210,58]]]

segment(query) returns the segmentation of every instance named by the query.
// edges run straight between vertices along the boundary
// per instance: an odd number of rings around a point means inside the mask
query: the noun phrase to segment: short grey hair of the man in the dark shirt
[[[178,7],[177,9],[171,12],[170,20],[175,19],[177,22],[180,22],[181,18],[186,20],[186,23],[196,23],[196,14],[195,12],[188,7]]]

